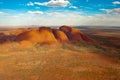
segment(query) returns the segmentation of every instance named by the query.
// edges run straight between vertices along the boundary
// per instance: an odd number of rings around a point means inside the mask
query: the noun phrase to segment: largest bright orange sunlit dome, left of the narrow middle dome
[[[16,41],[30,41],[32,43],[39,44],[53,44],[57,43],[56,38],[52,34],[51,28],[40,27],[39,29],[33,29],[17,36]]]

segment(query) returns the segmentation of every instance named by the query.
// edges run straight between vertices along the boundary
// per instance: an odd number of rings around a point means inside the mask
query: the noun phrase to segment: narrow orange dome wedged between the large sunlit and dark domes
[[[60,42],[68,42],[69,41],[67,35],[63,31],[60,31],[59,29],[53,29],[52,31],[53,31],[55,38],[58,41],[60,41]]]

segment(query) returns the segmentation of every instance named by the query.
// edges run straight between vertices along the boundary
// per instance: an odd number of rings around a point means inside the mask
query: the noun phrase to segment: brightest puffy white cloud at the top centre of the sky
[[[66,7],[70,4],[68,0],[50,0],[48,2],[34,2],[34,4],[39,6],[48,6],[48,7]]]

